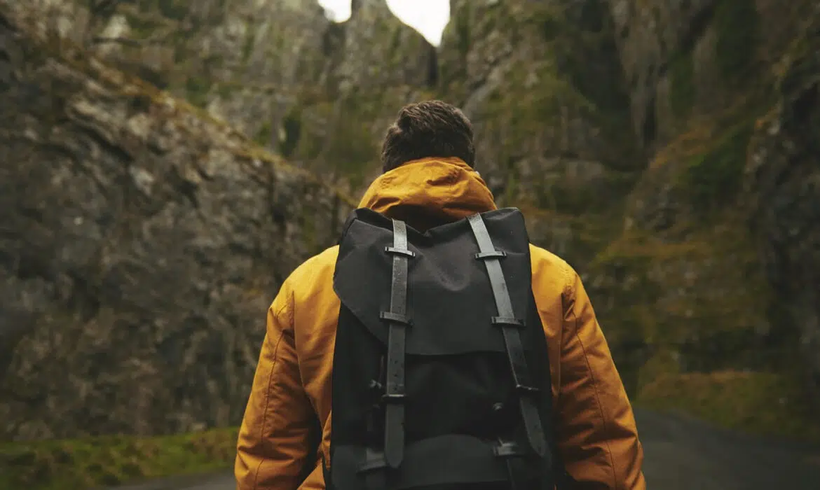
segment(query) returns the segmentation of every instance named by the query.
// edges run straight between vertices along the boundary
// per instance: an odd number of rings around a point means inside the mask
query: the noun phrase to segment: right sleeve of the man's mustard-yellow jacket
[[[645,490],[635,417],[581,278],[563,291],[558,449],[578,490]]]

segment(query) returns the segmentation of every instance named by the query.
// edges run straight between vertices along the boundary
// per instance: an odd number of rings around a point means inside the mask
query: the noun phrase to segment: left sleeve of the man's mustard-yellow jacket
[[[267,311],[267,328],[239,428],[237,490],[296,490],[307,456],[312,406],[294,348],[293,293],[285,281]]]

